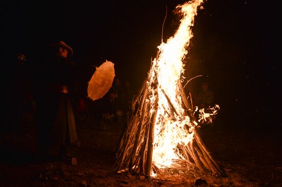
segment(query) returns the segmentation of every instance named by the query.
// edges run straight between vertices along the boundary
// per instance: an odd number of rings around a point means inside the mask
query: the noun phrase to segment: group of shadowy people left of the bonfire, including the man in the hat
[[[83,113],[94,116],[92,125],[98,128],[104,129],[107,120],[125,124],[133,95],[129,82],[123,86],[116,77],[108,93],[93,102],[87,97],[89,80],[72,60],[71,46],[57,41],[46,54],[40,64],[31,65],[19,53],[7,67],[1,135],[16,139],[35,127],[38,161],[51,157],[52,146],[58,147],[57,159],[64,161],[74,157],[70,149],[79,143],[77,123]]]

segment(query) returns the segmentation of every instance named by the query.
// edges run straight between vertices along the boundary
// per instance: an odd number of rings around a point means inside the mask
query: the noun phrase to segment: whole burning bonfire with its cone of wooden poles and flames
[[[165,169],[185,168],[225,175],[197,130],[200,123],[216,114],[219,106],[210,113],[199,110],[196,119],[182,85],[184,61],[193,37],[191,27],[202,3],[196,0],[176,7],[182,15],[179,27],[157,47],[148,77],[132,102],[131,118],[116,149],[119,171],[155,176]]]

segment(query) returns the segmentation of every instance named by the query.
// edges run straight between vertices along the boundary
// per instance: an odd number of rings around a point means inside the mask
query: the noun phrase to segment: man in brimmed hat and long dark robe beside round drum
[[[76,64],[68,58],[72,48],[58,41],[51,45],[51,53],[38,71],[38,152],[39,158],[44,157],[49,155],[50,146],[58,146],[58,158],[64,160],[72,156],[70,146],[78,140],[73,102],[82,95],[77,87]]]

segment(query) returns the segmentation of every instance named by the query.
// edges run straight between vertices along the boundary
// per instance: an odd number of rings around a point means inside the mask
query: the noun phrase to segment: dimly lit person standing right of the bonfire
[[[209,108],[213,104],[213,91],[209,89],[207,82],[203,82],[201,86],[202,90],[197,97],[197,105],[199,108]]]

